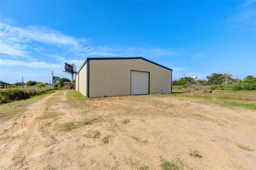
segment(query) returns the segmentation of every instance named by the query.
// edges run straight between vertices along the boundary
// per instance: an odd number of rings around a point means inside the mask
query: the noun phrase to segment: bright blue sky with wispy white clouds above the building
[[[64,62],[143,56],[173,79],[256,73],[255,1],[1,1],[0,70],[8,83],[49,82]]]

